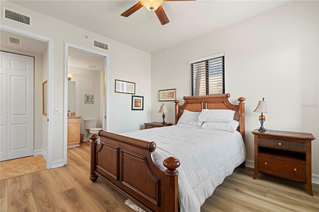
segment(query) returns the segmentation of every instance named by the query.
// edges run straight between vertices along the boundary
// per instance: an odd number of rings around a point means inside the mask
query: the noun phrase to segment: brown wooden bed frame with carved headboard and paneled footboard
[[[184,109],[235,110],[234,119],[239,121],[237,130],[245,141],[245,98],[238,99],[238,105],[229,102],[230,94],[184,97],[184,104],[175,101],[175,123]],[[178,212],[178,167],[179,160],[168,157],[163,161],[164,172],[156,166],[151,152],[156,150],[155,142],[143,141],[101,130],[91,138],[90,180],[103,179],[144,211]],[[245,166],[245,164],[242,164]]]

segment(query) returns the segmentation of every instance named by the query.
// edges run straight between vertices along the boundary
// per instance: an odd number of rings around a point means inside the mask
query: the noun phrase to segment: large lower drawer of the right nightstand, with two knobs
[[[259,155],[258,167],[279,175],[306,179],[306,163]]]

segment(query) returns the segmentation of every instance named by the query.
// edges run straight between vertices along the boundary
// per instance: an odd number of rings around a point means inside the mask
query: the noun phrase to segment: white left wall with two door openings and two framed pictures
[[[151,110],[151,54],[124,45],[112,39],[92,33],[82,28],[67,24],[44,14],[6,0],[1,0],[1,6],[32,16],[32,26],[24,26],[1,18],[1,24],[20,28],[32,33],[52,39],[52,163],[63,161],[63,115],[55,114],[54,108],[64,106],[64,44],[72,43],[84,48],[94,49],[106,53],[104,50],[93,47],[93,39],[109,44],[110,50],[110,88],[108,101],[111,105],[107,114],[110,124],[107,130],[111,132],[125,132],[137,130],[140,125],[149,120]],[[2,15],[2,13],[1,13]],[[144,96],[145,109],[131,110],[131,95],[114,93],[115,79],[136,83],[137,95]],[[63,111],[67,112],[67,111]]]

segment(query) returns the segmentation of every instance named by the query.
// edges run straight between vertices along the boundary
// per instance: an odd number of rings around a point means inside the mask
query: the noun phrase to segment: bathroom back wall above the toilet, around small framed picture
[[[82,116],[80,119],[80,132],[86,135],[87,131],[83,121],[84,118],[98,118],[97,127],[102,128],[101,101],[103,101],[103,99],[101,99],[100,91],[100,71],[91,71],[69,66],[68,72],[73,74],[71,81],[75,82],[76,115]],[[86,104],[84,101],[85,95],[94,95],[94,104]]]

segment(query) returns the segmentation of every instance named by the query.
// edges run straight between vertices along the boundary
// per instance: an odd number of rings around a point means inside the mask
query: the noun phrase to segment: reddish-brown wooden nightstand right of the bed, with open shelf
[[[255,129],[255,170],[305,182],[313,196],[311,183],[311,133]]]

